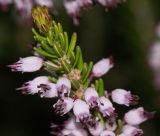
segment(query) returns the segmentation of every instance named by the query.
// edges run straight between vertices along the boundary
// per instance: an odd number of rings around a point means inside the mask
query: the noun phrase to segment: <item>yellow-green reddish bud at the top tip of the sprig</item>
[[[32,10],[32,18],[41,33],[47,33],[52,26],[52,17],[46,6],[36,6]]]

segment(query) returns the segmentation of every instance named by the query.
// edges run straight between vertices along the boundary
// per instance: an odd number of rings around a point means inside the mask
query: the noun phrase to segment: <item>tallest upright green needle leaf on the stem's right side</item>
[[[74,48],[76,46],[76,41],[77,41],[77,34],[73,33],[72,37],[71,37],[71,42],[69,44],[69,49],[68,49],[68,52],[67,52],[68,58],[70,58],[70,55],[71,55],[70,53],[74,50]]]

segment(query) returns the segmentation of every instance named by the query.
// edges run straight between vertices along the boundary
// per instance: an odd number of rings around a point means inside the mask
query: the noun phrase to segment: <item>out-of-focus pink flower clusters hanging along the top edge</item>
[[[7,10],[9,5],[14,4],[21,17],[28,20],[31,18],[31,9],[35,5],[47,6],[54,12],[55,2],[56,1],[53,0],[0,0],[0,9]],[[99,4],[108,9],[116,7],[122,2],[125,2],[125,0],[63,0],[64,7],[68,15],[72,17],[75,25],[79,24],[81,9],[89,9],[95,4]]]

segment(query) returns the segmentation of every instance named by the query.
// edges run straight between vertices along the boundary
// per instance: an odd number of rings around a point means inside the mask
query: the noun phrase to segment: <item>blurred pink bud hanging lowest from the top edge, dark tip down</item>
[[[64,0],[67,13],[73,18],[74,24],[79,24],[80,5],[77,0]]]

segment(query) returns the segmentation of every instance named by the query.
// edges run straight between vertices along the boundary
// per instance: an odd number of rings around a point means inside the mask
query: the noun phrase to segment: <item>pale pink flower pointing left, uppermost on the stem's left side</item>
[[[13,65],[9,65],[12,71],[34,72],[42,67],[43,60],[39,57],[31,56],[20,58],[20,60]]]

